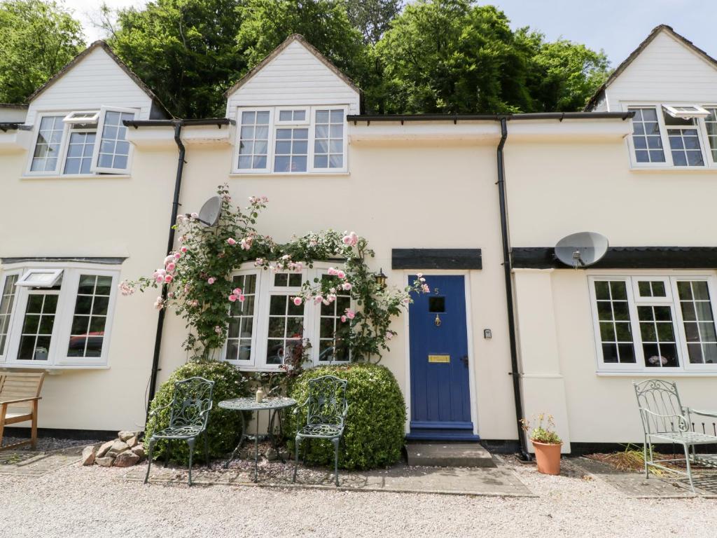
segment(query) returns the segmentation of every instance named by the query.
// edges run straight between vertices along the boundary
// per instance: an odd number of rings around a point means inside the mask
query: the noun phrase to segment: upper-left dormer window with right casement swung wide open
[[[128,174],[125,120],[137,111],[105,108],[41,113],[27,175]]]

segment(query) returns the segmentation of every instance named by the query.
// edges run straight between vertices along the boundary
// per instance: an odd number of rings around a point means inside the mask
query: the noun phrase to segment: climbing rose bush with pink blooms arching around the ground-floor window
[[[348,293],[356,309],[343,311],[337,338],[348,346],[352,361],[379,362],[381,352],[389,349],[389,341],[397,334],[390,329],[392,318],[412,302],[412,293],[429,291],[422,275],[405,288],[384,288],[367,264],[374,251],[356,232],[308,232],[278,244],[255,228],[267,207],[266,197],[250,197],[247,207],[239,208],[232,204],[226,184],[217,194],[222,200],[217,225],[202,224],[196,213],[180,215],[175,225],[178,248],[151,277],[120,283],[121,293],[160,290],[154,306],[171,309],[186,320],[189,333],[184,348],[191,357],[218,358],[214,355],[227,339],[229,306],[244,301],[242,288],[232,283],[232,273],[243,263],[252,262],[272,273],[300,273],[316,261],[339,260],[325,277],[305,281],[301,293],[291,300],[297,306],[306,302],[328,305],[338,293]]]

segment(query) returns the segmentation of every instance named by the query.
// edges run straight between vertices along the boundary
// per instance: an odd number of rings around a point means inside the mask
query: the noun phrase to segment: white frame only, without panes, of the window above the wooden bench
[[[44,271],[48,269],[59,270],[61,272],[62,283],[59,291],[49,291],[49,288],[39,288],[39,290],[34,291],[33,288],[27,286],[16,285],[16,295],[11,311],[8,341],[6,343],[5,355],[0,357],[0,365],[5,368],[40,369],[108,366],[120,269],[107,265],[87,263],[21,264],[8,266],[2,273],[3,278],[0,280],[2,280],[4,285],[4,280],[9,275],[24,275],[32,271]],[[109,276],[112,278],[107,316],[105,318],[103,347],[100,357],[67,357],[67,346],[70,344],[72,318],[75,313],[75,302],[77,301],[77,285],[80,282],[80,275],[83,274]],[[19,360],[17,359],[17,354],[19,352],[20,336],[24,324],[27,301],[30,295],[37,293],[52,293],[57,295],[57,310],[55,311],[55,320],[52,326],[51,348],[49,349],[47,361]]]

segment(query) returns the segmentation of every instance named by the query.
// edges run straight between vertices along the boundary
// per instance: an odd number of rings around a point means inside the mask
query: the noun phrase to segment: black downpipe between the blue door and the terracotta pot
[[[500,143],[498,143],[498,197],[500,198],[500,235],[503,239],[503,273],[505,274],[505,306],[508,308],[508,339],[511,342],[511,376],[513,377],[513,398],[516,400],[516,425],[518,443],[521,445],[521,457],[530,461],[526,445],[526,433],[523,431],[523,401],[521,398],[521,379],[518,373],[518,344],[516,342],[516,320],[513,313],[513,268],[511,266],[511,244],[508,236],[508,204],[505,196],[505,164],[503,146],[508,138],[508,118],[500,118]]]

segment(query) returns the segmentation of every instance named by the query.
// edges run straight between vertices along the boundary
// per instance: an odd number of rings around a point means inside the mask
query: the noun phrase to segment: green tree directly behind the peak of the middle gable
[[[366,47],[346,9],[333,0],[247,0],[239,12],[239,50],[250,67],[257,65],[290,34],[301,34],[341,72],[356,82],[366,72]]]

